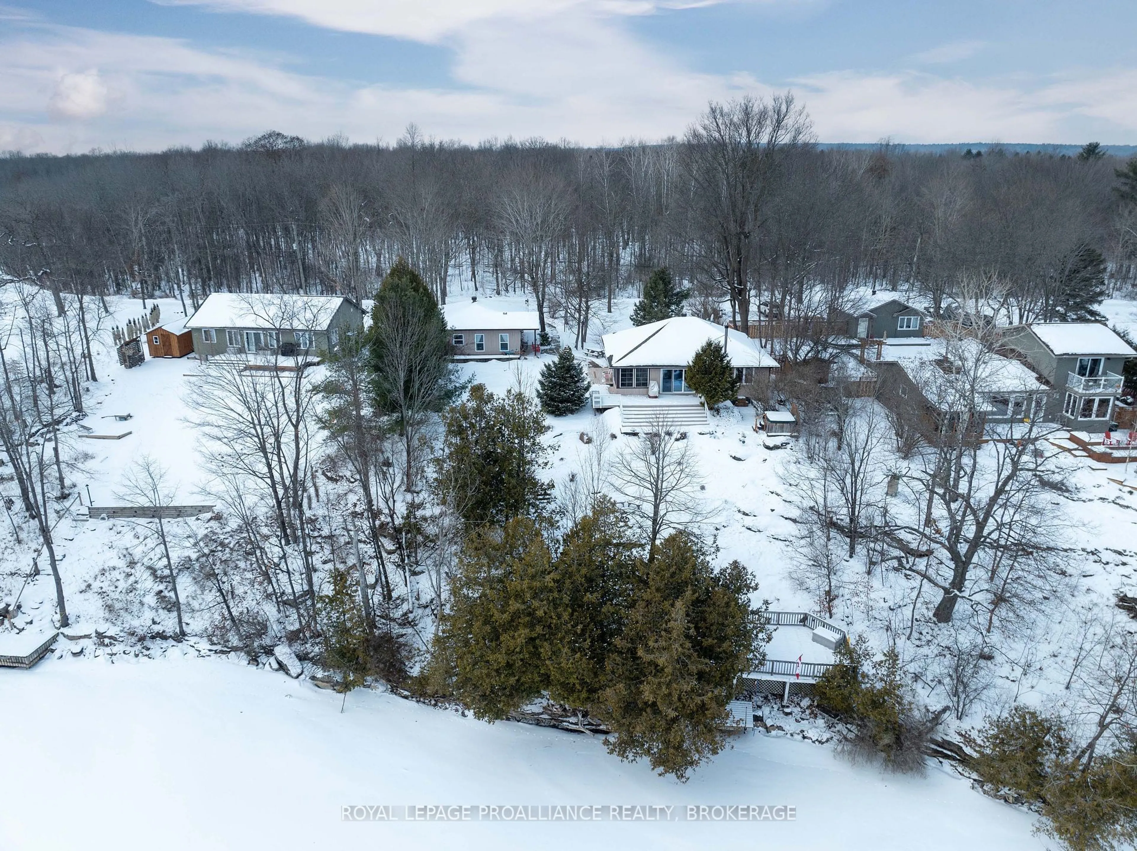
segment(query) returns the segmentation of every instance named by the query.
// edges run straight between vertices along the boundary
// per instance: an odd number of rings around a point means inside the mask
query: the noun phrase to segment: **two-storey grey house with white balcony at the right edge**
[[[1137,357],[1104,323],[1032,323],[1007,328],[1005,353],[1029,361],[1053,387],[1045,418],[1072,431],[1109,431],[1128,358]]]

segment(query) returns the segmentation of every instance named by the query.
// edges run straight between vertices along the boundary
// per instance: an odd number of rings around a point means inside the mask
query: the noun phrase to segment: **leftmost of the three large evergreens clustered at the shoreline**
[[[431,665],[478,718],[505,718],[545,687],[550,561],[524,517],[475,529],[463,548]]]

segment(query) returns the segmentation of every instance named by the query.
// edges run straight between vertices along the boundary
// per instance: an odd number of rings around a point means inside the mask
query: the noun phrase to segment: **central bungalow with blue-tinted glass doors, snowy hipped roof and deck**
[[[604,364],[594,366],[592,407],[620,408],[621,428],[638,431],[666,416],[674,425],[706,425],[703,400],[688,386],[687,367],[707,341],[725,344],[742,392],[757,395],[778,361],[740,331],[696,316],[639,325],[605,334]]]

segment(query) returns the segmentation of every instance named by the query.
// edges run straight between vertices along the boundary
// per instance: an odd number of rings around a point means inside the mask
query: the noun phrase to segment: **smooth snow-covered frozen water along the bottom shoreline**
[[[1040,849],[953,774],[882,775],[763,735],[686,785],[595,740],[340,696],[236,662],[49,658],[0,670],[0,848]],[[345,804],[790,804],[783,823],[340,820]]]

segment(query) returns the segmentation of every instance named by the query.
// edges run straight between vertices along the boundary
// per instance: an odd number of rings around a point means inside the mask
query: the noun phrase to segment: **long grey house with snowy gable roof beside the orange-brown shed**
[[[215,292],[185,320],[193,351],[209,358],[318,356],[362,328],[363,309],[342,295]]]

